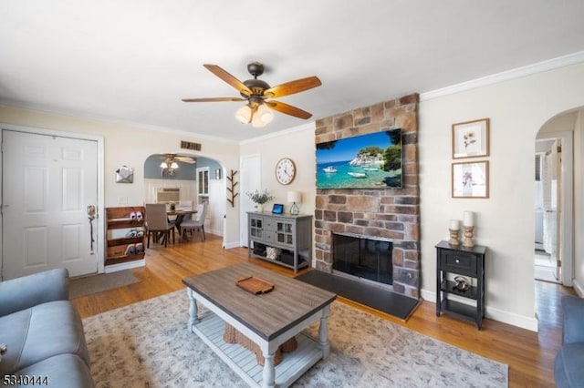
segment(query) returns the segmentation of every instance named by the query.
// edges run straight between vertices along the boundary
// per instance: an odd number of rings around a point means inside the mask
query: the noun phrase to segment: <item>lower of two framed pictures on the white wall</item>
[[[453,163],[453,198],[489,198],[489,162]]]

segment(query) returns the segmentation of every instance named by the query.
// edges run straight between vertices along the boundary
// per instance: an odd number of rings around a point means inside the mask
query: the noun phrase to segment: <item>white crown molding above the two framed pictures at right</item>
[[[533,74],[542,73],[544,71],[553,70],[559,67],[570,66],[584,62],[584,51],[578,53],[568,54],[568,56],[558,56],[557,58],[548,59],[543,62],[537,62],[533,65],[517,67],[515,69],[506,70],[501,73],[496,73],[491,76],[480,77],[471,81],[455,84],[450,87],[442,87],[440,89],[423,92],[420,94],[420,102],[428,101],[433,98],[453,95],[455,93],[464,92],[477,87],[487,87],[499,82],[508,81],[520,77],[527,77]]]

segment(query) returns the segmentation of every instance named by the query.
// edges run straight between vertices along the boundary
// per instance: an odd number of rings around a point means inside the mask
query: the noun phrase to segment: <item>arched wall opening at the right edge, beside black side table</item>
[[[582,117],[584,107],[569,109],[551,117],[537,132],[534,191],[535,278],[574,286],[580,296],[584,295],[584,271],[579,270],[584,265],[584,245],[578,238],[584,225]]]

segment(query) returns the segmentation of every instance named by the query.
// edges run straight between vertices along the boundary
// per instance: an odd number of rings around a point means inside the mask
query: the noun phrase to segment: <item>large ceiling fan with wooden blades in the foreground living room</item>
[[[319,87],[321,82],[318,77],[300,78],[276,87],[270,87],[266,81],[257,79],[257,77],[264,74],[264,65],[259,62],[247,65],[247,71],[254,78],[247,79],[244,82],[227,73],[220,66],[209,64],[203,66],[215,76],[223,79],[227,84],[235,87],[241,97],[183,98],[184,102],[247,101],[247,104],[237,111],[235,117],[244,124],[251,123],[254,127],[264,127],[272,121],[274,115],[271,109],[304,119],[312,117],[312,114],[299,107],[293,107],[271,98],[289,96],[313,87]]]

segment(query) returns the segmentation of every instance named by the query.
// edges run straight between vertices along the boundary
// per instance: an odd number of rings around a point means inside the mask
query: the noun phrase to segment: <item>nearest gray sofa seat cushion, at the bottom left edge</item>
[[[35,382],[35,385],[39,386],[56,388],[95,386],[88,365],[77,354],[58,354],[18,371],[16,376],[18,375],[28,378],[35,376],[41,379],[40,383]],[[44,380],[45,377],[47,380]],[[32,385],[32,383],[26,385]]]

